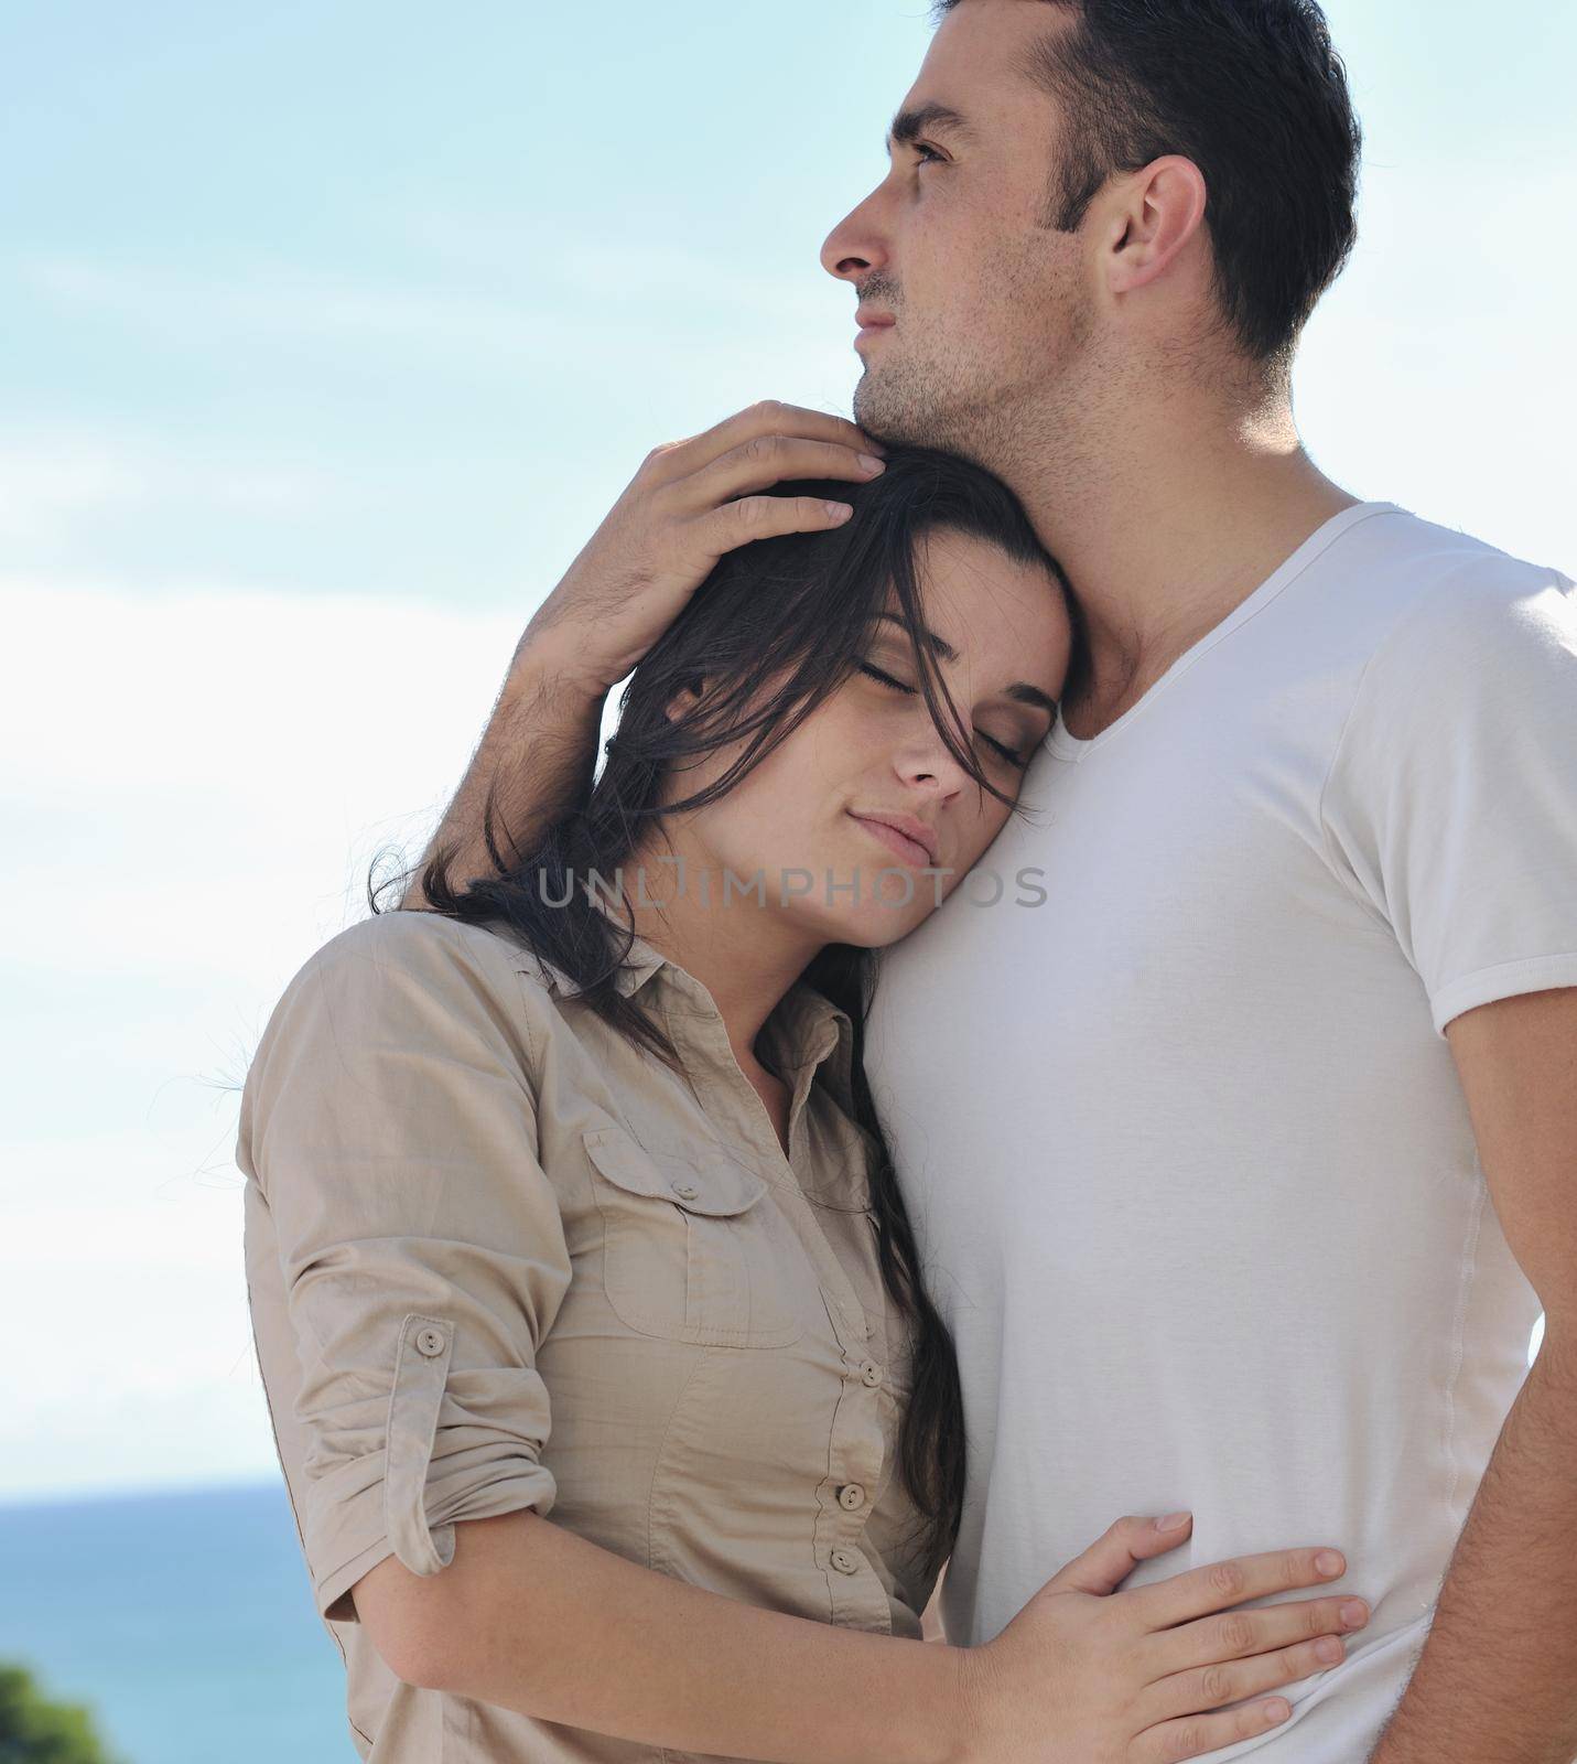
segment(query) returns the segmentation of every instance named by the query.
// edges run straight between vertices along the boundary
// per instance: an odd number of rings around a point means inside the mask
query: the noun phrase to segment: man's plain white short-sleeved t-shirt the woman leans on
[[[1540,1314],[1443,1030],[1577,986],[1577,591],[1348,508],[1023,801],[866,1053],[963,1378],[949,1637],[1122,1514],[1194,1512],[1125,1586],[1334,1544],[1369,1626],[1210,1757],[1355,1764]]]

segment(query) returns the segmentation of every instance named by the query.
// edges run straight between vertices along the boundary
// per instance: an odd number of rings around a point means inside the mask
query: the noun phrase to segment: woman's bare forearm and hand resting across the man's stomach
[[[1249,1699],[1327,1671],[1358,1626],[1341,1596],[1231,1611],[1341,1575],[1339,1552],[1321,1566],[1312,1549],[1268,1551],[1118,1591],[1187,1536],[1118,1519],[981,1648],[721,1598],[529,1510],[457,1524],[453,1559],[434,1579],[381,1561],[355,1600],[407,1683],[676,1752],[1177,1764],[1284,1720],[1284,1699]]]

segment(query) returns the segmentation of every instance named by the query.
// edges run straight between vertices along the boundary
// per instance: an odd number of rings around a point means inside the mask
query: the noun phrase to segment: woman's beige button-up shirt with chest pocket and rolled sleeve
[[[258,1364],[363,1759],[679,1757],[385,1667],[349,1588],[390,1554],[443,1572],[462,1519],[531,1506],[729,1598],[921,1635],[848,1018],[799,983],[767,1020],[785,1157],[706,988],[630,960],[683,1080],[503,926],[425,912],[319,949],[247,1074]]]

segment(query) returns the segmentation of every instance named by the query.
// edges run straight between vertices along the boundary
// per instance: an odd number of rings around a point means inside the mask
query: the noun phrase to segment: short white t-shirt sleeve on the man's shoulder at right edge
[[[1577,986],[1577,589],[1510,557],[1434,586],[1364,670],[1321,803],[1434,1028]]]

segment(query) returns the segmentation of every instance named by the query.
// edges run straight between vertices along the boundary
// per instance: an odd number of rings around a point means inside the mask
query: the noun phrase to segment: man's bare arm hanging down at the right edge
[[[1545,1311],[1452,1556],[1429,1637],[1371,1764],[1577,1759],[1577,988],[1446,1027],[1512,1254]]]

